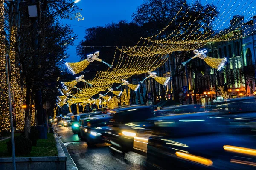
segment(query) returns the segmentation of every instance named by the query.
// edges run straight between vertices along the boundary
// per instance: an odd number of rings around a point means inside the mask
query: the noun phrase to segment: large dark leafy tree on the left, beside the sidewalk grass
[[[6,23],[8,32],[15,34],[15,43],[9,39],[8,47],[15,49],[14,63],[17,71],[13,76],[17,78],[19,87],[22,87],[23,93],[26,92],[24,98],[20,100],[26,103],[25,109],[25,136],[28,137],[30,131],[30,122],[32,117],[32,105],[36,105],[36,109],[41,110],[40,101],[36,100],[36,91],[47,89],[45,82],[55,82],[61,73],[61,64],[67,54],[67,44],[71,44],[76,36],[73,35],[73,30],[60,23],[63,18],[75,18],[76,12],[79,10],[77,6],[72,5],[71,0],[42,0],[40,4],[41,17],[36,22],[36,30],[31,27],[31,20],[27,13],[27,3],[21,2],[18,5],[17,15],[12,15],[11,12],[9,20],[10,24]],[[17,7],[17,3],[9,3],[6,10],[12,9],[12,6]],[[64,11],[60,12],[62,9]],[[58,17],[52,17],[58,14]],[[17,28],[12,30],[12,28]],[[39,33],[39,34],[37,34]],[[12,35],[11,35],[12,36]],[[38,41],[38,43],[37,43]],[[43,94],[43,97],[56,98],[58,91],[54,90],[51,95]],[[17,95],[17,94],[15,94]],[[41,97],[41,96],[38,96]],[[43,101],[45,99],[43,98]],[[49,101],[47,99],[47,101]],[[17,102],[17,101],[16,101]],[[54,105],[52,103],[52,105]],[[38,117],[41,119],[41,117]]]

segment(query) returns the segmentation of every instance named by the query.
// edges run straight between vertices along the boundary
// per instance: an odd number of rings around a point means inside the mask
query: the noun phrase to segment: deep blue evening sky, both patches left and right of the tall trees
[[[190,0],[191,2],[191,0]],[[217,20],[215,29],[226,28],[229,21],[235,14],[245,15],[245,20],[249,20],[253,14],[255,15],[256,0],[207,0],[208,3],[217,4],[220,9],[220,19]],[[73,46],[69,46],[68,54],[70,57],[67,62],[78,62],[76,55],[76,45],[83,39],[85,29],[93,26],[105,26],[111,22],[120,20],[131,21],[131,14],[136,8],[143,3],[143,0],[81,0],[77,3],[81,15],[84,20],[63,20],[65,24],[71,24],[74,33],[78,35],[78,39],[74,41]],[[205,0],[201,0],[205,3]],[[223,14],[223,15],[221,15]],[[225,22],[226,21],[226,22]],[[223,23],[223,24],[222,24]]]

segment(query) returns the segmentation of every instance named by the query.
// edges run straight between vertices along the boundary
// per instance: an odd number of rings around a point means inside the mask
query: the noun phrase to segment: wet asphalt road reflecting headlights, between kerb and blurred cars
[[[79,170],[146,170],[146,158],[134,152],[113,155],[109,152],[110,144],[97,144],[88,147],[71,127],[56,127],[56,132],[67,147],[71,158]]]

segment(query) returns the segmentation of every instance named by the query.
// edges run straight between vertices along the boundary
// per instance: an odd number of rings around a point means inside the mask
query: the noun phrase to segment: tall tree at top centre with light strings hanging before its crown
[[[181,11],[180,11],[181,10]],[[173,20],[176,16],[176,20]],[[161,34],[154,39],[163,39],[176,37],[175,40],[193,40],[200,35],[209,37],[212,35],[212,22],[218,16],[218,11],[211,4],[202,5],[196,1],[191,7],[185,0],[144,0],[136,12],[132,15],[133,22],[141,25],[146,30],[147,37],[158,34],[163,28],[168,26]],[[178,28],[178,29],[175,29]],[[195,31],[195,28],[196,31]],[[172,33],[172,34],[169,34]],[[175,52],[171,57],[175,57],[175,63],[172,63],[172,86],[174,99],[179,102],[179,91],[176,85],[176,78],[179,76],[183,60],[188,59],[187,52]],[[186,56],[186,57],[185,57]],[[173,61],[173,58],[171,59]]]

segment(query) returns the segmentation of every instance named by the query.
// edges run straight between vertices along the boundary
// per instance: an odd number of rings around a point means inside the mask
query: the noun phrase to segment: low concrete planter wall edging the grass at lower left
[[[66,170],[66,160],[61,144],[56,135],[58,156],[16,158],[17,170]],[[0,170],[13,169],[12,158],[0,158]]]

